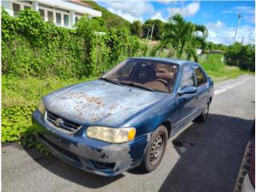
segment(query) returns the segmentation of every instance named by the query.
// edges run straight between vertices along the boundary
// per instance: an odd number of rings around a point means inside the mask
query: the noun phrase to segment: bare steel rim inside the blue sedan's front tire
[[[154,140],[153,145],[151,146],[150,151],[150,164],[155,165],[159,158],[161,157],[163,147],[165,145],[163,135],[159,134],[158,137]]]

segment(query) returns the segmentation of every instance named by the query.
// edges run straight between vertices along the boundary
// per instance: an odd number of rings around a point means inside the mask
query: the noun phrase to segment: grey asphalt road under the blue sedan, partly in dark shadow
[[[255,113],[255,78],[215,84],[210,116],[168,142],[157,170],[104,178],[18,144],[2,146],[2,191],[233,191]]]

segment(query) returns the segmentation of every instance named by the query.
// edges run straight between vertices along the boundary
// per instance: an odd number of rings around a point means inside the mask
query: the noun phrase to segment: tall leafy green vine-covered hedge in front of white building
[[[2,74],[90,77],[143,53],[145,46],[128,30],[106,30],[104,23],[102,18],[84,16],[71,30],[42,22],[34,10],[23,10],[12,18],[2,9]],[[98,30],[106,34],[95,33]]]

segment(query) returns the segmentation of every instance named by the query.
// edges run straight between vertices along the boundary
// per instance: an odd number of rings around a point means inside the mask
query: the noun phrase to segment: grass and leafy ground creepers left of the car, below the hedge
[[[31,136],[34,127],[32,112],[43,95],[92,78],[60,80],[58,78],[39,79],[2,76],[2,142],[20,141],[22,145],[35,146],[48,153],[44,147],[34,142]],[[22,139],[21,139],[22,138]]]

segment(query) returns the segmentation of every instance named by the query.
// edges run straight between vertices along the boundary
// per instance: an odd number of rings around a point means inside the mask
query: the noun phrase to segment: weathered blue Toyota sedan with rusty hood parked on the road
[[[166,142],[206,121],[214,82],[196,62],[129,58],[97,80],[46,95],[33,113],[36,135],[82,170],[114,176],[157,168]]]

